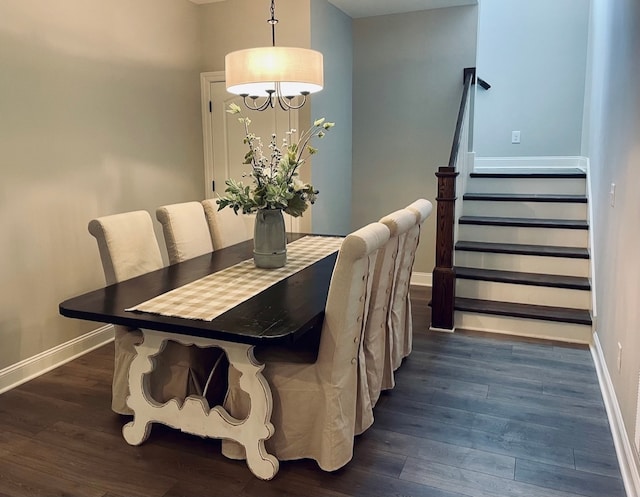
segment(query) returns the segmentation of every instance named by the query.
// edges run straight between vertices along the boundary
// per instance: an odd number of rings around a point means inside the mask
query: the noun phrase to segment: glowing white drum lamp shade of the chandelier
[[[259,47],[227,54],[227,91],[266,97],[280,83],[280,94],[295,97],[322,90],[322,54],[297,47]]]

